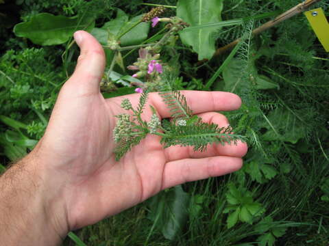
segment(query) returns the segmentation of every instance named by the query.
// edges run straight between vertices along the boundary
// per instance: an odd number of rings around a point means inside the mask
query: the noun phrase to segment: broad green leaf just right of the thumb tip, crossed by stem
[[[106,45],[108,44],[108,38],[115,38],[121,33],[129,30],[136,23],[138,23],[139,20],[141,20],[141,17],[142,15],[139,15],[129,20],[129,17],[125,14],[125,12],[118,10],[117,18],[108,21],[101,28],[94,28],[91,33],[101,44]],[[132,28],[120,38],[120,45],[130,46],[141,44],[141,42],[146,40],[148,33],[149,23],[139,23],[136,27]]]

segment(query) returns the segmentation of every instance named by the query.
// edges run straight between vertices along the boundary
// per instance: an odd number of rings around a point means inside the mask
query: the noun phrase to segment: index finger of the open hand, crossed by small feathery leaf
[[[241,98],[230,92],[180,91],[193,113],[210,111],[232,111],[241,107]],[[156,107],[161,118],[169,118],[171,113],[158,93],[149,95],[149,103]]]

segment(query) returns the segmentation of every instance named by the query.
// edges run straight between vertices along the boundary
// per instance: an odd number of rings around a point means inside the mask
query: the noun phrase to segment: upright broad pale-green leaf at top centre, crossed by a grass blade
[[[208,23],[218,23],[221,20],[223,0],[179,0],[177,16],[182,18],[191,27]],[[218,27],[198,29],[180,33],[182,42],[193,47],[199,55],[199,60],[210,59],[215,53],[215,37]]]

